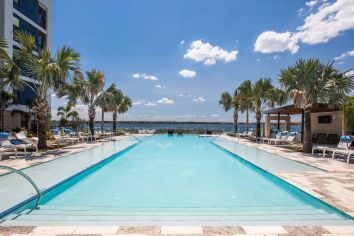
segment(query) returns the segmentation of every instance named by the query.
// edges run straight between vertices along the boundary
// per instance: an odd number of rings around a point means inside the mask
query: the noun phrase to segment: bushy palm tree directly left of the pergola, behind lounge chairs
[[[275,104],[285,103],[285,93],[272,85],[270,78],[261,78],[251,84],[250,101],[252,110],[256,113],[256,136],[261,136],[262,113]]]

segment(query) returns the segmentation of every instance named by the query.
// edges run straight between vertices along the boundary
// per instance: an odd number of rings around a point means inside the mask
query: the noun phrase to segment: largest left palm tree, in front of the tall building
[[[16,32],[15,39],[19,47],[14,49],[14,61],[21,65],[22,72],[35,85],[24,80],[20,82],[36,93],[34,111],[38,122],[38,148],[47,148],[48,96],[64,85],[70,72],[78,69],[80,54],[64,46],[52,55],[49,49],[37,48],[35,38],[26,32]],[[3,71],[10,76],[2,80],[1,87],[18,84],[19,68],[14,63],[9,63]]]

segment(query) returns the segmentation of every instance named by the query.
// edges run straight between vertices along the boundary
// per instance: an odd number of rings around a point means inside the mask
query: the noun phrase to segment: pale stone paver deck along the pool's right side
[[[226,135],[222,137],[325,170],[307,172],[268,171],[354,217],[354,164],[347,164],[344,159],[333,160],[330,155],[323,158],[321,154],[312,156],[311,154],[294,152],[281,146],[259,144],[247,139],[238,139]]]

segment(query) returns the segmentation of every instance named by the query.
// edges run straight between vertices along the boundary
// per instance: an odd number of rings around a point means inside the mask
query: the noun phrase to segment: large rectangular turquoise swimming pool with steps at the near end
[[[321,171],[287,161],[295,170]],[[131,150],[55,188],[45,195],[39,210],[24,211],[16,222],[353,224],[336,209],[212,144],[209,138],[194,135],[145,137]]]

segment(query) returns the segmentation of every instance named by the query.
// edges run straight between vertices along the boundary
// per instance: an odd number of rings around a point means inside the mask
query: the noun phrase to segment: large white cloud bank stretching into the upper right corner
[[[354,28],[354,8],[352,0],[337,0],[333,3],[313,1],[308,6],[319,5],[304,19],[294,32],[278,33],[265,31],[255,42],[254,50],[262,53],[290,51],[296,53],[300,42],[305,44],[326,43],[346,30]]]

